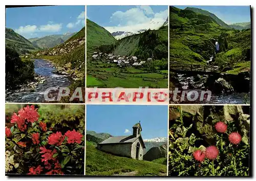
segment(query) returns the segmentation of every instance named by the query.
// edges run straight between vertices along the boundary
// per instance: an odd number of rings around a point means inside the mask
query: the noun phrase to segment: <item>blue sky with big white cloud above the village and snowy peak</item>
[[[168,6],[87,6],[87,18],[111,33],[153,29],[163,25],[167,16]]]

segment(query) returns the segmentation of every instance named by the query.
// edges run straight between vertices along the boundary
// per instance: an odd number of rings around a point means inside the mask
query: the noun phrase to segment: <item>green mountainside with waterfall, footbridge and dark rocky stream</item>
[[[238,25],[246,27],[249,24]],[[234,29],[206,10],[170,6],[169,42],[170,89],[210,90],[214,95],[211,103],[247,103],[250,29]],[[238,95],[233,98],[233,94]],[[188,100],[183,102],[190,103]]]

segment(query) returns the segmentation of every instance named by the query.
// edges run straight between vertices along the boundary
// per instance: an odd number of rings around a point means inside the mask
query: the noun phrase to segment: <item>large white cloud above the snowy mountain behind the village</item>
[[[116,11],[110,17],[110,22],[117,26],[104,27],[110,33],[116,31],[130,31],[138,33],[138,30],[160,28],[168,17],[168,9],[154,12],[150,6],[137,6],[125,12]]]

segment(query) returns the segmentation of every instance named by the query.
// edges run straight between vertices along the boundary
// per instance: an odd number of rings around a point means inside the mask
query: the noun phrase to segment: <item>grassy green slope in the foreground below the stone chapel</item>
[[[86,175],[166,175],[166,165],[108,154],[97,150],[88,141],[86,145]]]

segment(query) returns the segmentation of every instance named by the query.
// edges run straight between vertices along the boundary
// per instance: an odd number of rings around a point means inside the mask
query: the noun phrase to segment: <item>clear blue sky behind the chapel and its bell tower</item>
[[[87,105],[87,130],[131,135],[140,121],[142,138],[167,138],[168,106],[146,105]],[[131,131],[131,132],[129,132]]]

